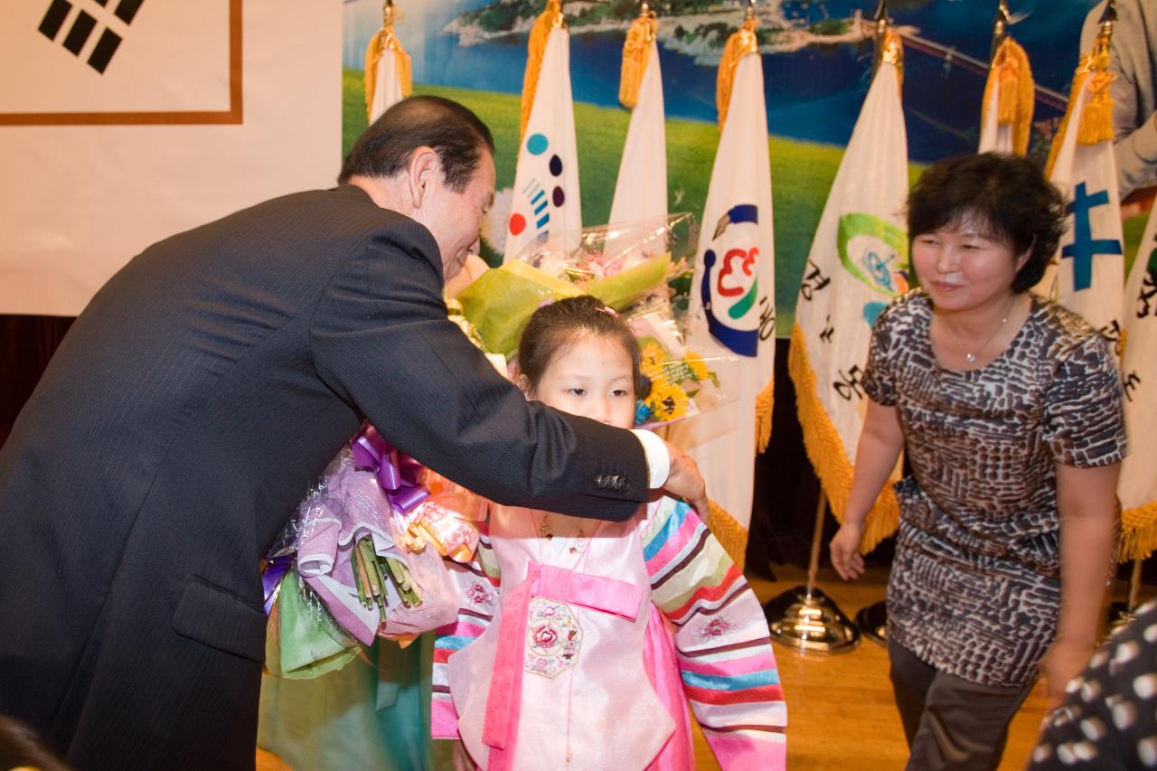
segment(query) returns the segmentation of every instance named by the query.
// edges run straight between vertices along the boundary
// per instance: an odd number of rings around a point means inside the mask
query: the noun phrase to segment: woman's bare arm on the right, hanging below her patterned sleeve
[[[1120,463],[1078,469],[1056,464],[1056,508],[1061,519],[1061,616],[1056,641],[1042,663],[1049,706],[1089,661],[1100,636],[1105,585],[1117,534],[1117,477]]]

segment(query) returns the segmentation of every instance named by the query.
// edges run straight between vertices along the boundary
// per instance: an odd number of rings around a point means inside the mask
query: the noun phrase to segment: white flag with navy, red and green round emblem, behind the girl
[[[742,565],[756,451],[767,447],[771,433],[775,362],[772,170],[753,20],[728,41],[718,102],[722,132],[699,236],[688,346],[727,359],[716,374],[736,398],[671,426],[668,438],[699,464],[722,508],[713,509],[710,528]]]

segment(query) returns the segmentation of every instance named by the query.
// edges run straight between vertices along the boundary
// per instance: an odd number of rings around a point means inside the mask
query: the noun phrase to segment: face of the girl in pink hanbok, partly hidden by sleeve
[[[611,337],[583,335],[561,347],[528,396],[619,428],[635,417],[631,354]]]

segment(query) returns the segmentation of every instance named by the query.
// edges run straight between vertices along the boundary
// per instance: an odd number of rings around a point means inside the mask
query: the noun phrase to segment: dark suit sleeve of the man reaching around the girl
[[[526,402],[447,320],[440,271],[414,222],[359,244],[311,320],[322,381],[398,449],[491,500],[631,517],[648,486],[639,440]]]

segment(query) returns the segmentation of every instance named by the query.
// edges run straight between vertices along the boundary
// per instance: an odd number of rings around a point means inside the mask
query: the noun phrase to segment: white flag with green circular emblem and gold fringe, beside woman
[[[788,369],[804,448],[842,521],[867,413],[861,386],[876,317],[908,289],[908,142],[900,104],[902,46],[889,31],[864,105],[808,254]],[[899,522],[891,485],[864,526],[870,550]]]

